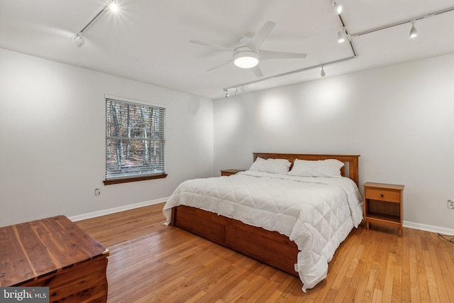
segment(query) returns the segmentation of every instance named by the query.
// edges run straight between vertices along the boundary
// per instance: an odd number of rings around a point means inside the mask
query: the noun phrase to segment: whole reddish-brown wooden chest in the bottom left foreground
[[[65,216],[0,228],[0,287],[49,287],[50,302],[106,302],[107,256]]]

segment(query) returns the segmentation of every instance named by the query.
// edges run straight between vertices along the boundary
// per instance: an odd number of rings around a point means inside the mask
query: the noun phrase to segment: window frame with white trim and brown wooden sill
[[[107,119],[108,119],[108,113],[107,113],[107,110],[106,110],[106,106],[109,102],[109,100],[112,100],[112,101],[118,101],[118,102],[123,102],[123,103],[129,103],[129,104],[133,104],[135,106],[149,106],[149,107],[156,107],[156,108],[160,108],[160,109],[164,109],[164,122],[163,122],[163,125],[162,125],[162,131],[164,132],[164,135],[162,136],[162,139],[161,141],[163,142],[163,149],[164,151],[162,152],[162,156],[164,158],[163,162],[162,162],[162,168],[163,168],[163,172],[158,172],[158,173],[150,173],[150,174],[146,174],[146,173],[138,173],[138,174],[135,174],[135,175],[122,175],[122,176],[118,176],[118,177],[107,177],[107,166],[108,166],[108,163],[107,163],[107,141],[108,140],[112,140],[112,138],[109,138],[107,135],[108,135],[108,131],[107,131],[107,128],[108,128],[108,122],[107,122]],[[163,104],[155,104],[155,103],[150,103],[150,102],[146,102],[146,101],[140,101],[140,100],[136,100],[136,99],[128,99],[128,98],[123,98],[123,97],[118,97],[118,96],[112,96],[112,95],[108,95],[108,94],[105,94],[104,95],[104,110],[106,111],[105,112],[105,117],[104,117],[104,126],[105,126],[105,132],[104,132],[104,164],[105,164],[105,170],[104,170],[104,185],[111,185],[111,184],[121,184],[121,183],[126,183],[126,182],[137,182],[137,181],[143,181],[143,180],[153,180],[153,179],[162,179],[162,178],[165,178],[167,177],[167,172],[165,171],[165,143],[166,143],[166,139],[165,139],[165,123],[166,123],[166,111],[167,111],[167,107]],[[124,137],[124,138],[128,138],[128,137]],[[128,139],[129,140],[129,139]],[[153,141],[155,139],[150,139],[150,141]]]

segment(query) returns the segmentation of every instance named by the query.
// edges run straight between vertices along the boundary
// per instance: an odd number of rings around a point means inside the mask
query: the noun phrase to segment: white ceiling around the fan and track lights
[[[259,79],[230,63],[231,53],[189,40],[233,48],[265,21],[277,23],[261,49],[308,53],[306,59],[260,62],[263,78],[352,57],[337,43],[341,20],[330,0],[117,0],[84,31],[85,45],[71,39],[106,4],[104,0],[0,0],[0,48],[87,67],[140,82],[218,99],[223,89]],[[355,34],[454,6],[453,0],[338,0],[348,32]],[[454,11],[353,38],[358,53],[324,67],[326,77],[454,53]],[[1,68],[1,67],[0,67]],[[319,79],[320,68],[266,79],[246,92]]]

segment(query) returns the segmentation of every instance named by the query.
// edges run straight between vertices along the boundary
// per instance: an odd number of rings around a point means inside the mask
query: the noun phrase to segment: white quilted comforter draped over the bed
[[[295,269],[304,292],[326,277],[336,248],[362,220],[360,192],[346,177],[248,170],[183,182],[164,206],[167,224],[177,205],[195,206],[289,236],[300,250]]]

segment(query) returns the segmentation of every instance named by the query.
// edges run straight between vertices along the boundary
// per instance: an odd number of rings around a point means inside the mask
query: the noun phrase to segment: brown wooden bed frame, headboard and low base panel
[[[337,159],[345,163],[341,175],[352,179],[358,185],[359,155],[308,155],[283,153],[253,153],[254,161],[263,159],[294,159],[326,160]],[[267,231],[264,228],[250,226],[241,221],[219,216],[211,211],[204,211],[190,206],[177,206],[172,209],[172,226],[178,226],[198,236],[255,258],[267,265],[299,276],[294,270],[299,250],[297,245],[287,236],[277,231]]]

